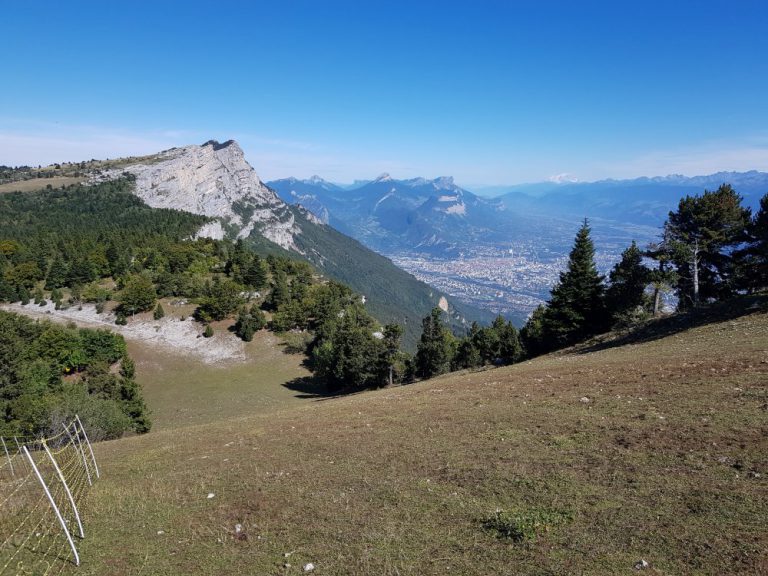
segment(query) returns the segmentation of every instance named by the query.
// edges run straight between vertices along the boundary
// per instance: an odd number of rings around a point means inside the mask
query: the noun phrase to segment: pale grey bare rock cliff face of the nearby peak
[[[152,207],[217,218],[200,230],[200,236],[245,238],[256,228],[268,240],[301,252],[294,240],[300,234],[294,214],[259,180],[233,140],[171,148],[150,163],[104,172],[94,179],[113,179],[124,172],[136,176],[136,194]]]

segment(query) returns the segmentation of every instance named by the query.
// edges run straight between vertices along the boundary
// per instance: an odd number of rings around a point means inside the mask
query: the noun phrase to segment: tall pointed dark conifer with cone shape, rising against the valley
[[[568,259],[552,289],[544,321],[544,336],[560,348],[597,334],[605,328],[603,276],[597,273],[595,246],[584,219]]]

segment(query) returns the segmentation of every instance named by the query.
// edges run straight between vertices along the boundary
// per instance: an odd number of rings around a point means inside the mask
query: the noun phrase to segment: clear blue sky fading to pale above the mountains
[[[768,170],[768,2],[3,2],[0,164],[237,139],[263,179]]]

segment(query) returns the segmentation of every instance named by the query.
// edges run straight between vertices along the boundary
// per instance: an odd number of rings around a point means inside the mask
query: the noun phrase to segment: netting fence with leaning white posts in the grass
[[[98,477],[77,416],[48,438],[0,437],[0,576],[80,565],[80,511]]]

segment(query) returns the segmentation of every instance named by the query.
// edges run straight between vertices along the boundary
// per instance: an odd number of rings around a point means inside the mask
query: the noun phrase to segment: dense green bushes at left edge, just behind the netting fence
[[[123,337],[0,311],[0,435],[38,436],[79,414],[94,439],[151,426]]]

